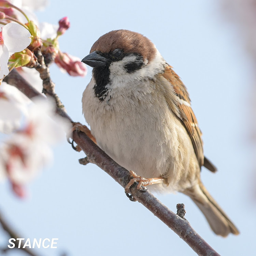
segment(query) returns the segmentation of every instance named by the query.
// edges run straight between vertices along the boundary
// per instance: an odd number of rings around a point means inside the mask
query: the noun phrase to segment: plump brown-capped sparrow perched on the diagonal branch
[[[82,106],[99,147],[130,171],[138,188],[179,191],[199,207],[212,230],[239,234],[201,182],[201,131],[187,88],[156,46],[142,34],[114,30],[102,35],[82,59],[93,67]]]

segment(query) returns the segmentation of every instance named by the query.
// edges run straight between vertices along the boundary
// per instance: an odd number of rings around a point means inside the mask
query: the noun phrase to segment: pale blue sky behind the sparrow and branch
[[[51,1],[40,22],[58,24],[68,16],[71,27],[59,42],[63,52],[81,59],[104,33],[129,29],[157,46],[188,88],[203,131],[205,155],[218,167],[202,169],[202,181],[241,234],[216,236],[196,205],[182,194],[158,195],[172,211],[184,203],[186,218],[221,255],[255,253],[255,156],[251,142],[252,63],[236,28],[227,22],[218,1]],[[81,98],[91,79],[70,77],[53,65],[56,91],[75,121],[84,123]],[[57,249],[40,255],[196,255],[172,230],[140,203],[130,202],[110,176],[63,141],[54,164],[28,186],[20,200],[8,183],[0,186],[0,209],[25,238],[59,238]],[[136,170],[134,170],[136,171]],[[0,244],[8,237],[0,232]],[[22,256],[13,250],[8,255]]]

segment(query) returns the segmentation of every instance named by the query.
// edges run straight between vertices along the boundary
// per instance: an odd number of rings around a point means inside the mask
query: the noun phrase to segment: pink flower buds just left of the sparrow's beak
[[[59,51],[54,61],[58,67],[66,70],[71,76],[85,76],[87,74],[87,68],[84,63],[79,58],[67,53]]]

